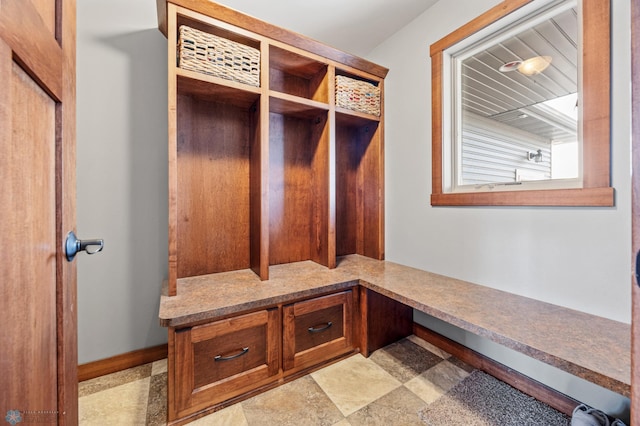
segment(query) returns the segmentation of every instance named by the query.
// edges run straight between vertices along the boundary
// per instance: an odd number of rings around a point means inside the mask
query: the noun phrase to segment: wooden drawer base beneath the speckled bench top
[[[314,327],[319,331],[318,336],[322,336],[325,332],[322,328],[328,321],[334,322],[333,328],[328,328],[333,333],[319,339],[305,336],[306,327]],[[196,345],[261,326],[266,327],[263,364],[251,365],[252,368],[246,371],[223,378],[210,371],[198,371]],[[172,328],[168,355],[169,424],[191,421],[352,354],[360,352],[369,356],[412,332],[411,307],[357,284],[338,292],[292,299],[255,312]],[[240,352],[235,348],[240,349],[243,344],[238,340],[227,346],[238,354]],[[218,351],[214,352],[217,354]],[[213,357],[207,356],[206,361],[215,368]],[[196,383],[198,380],[199,384]]]

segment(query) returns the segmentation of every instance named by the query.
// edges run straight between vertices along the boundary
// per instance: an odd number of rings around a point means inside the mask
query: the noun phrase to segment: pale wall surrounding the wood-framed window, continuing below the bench
[[[497,0],[441,0],[368,55],[385,80],[386,258],[432,272],[631,321],[629,2],[613,0],[613,208],[431,207],[429,46]],[[610,413],[616,394],[545,370],[432,318],[416,320]],[[534,319],[532,319],[534,320]],[[585,338],[589,325],[585,324]],[[623,417],[625,414],[620,414]]]

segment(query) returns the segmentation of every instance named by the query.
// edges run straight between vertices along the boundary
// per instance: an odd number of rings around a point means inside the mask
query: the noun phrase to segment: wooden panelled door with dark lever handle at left
[[[0,0],[0,416],[77,424],[75,0]]]

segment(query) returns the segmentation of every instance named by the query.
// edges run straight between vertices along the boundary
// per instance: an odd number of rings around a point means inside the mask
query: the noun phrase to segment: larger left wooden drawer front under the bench
[[[177,330],[178,417],[226,401],[278,378],[278,309]]]

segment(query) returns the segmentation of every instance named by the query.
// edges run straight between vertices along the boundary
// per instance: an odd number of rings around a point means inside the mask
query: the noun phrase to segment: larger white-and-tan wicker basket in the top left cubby
[[[235,41],[180,26],[178,66],[260,86],[260,51]]]

